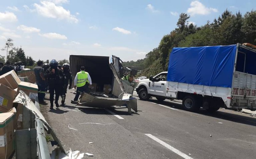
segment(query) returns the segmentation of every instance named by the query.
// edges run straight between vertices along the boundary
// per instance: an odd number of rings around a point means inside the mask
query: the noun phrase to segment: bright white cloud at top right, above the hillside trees
[[[211,12],[218,12],[218,10],[216,8],[208,8],[206,7],[204,4],[202,4],[201,2],[199,1],[192,1],[190,3],[190,8],[188,8],[188,13],[191,15],[191,16],[194,16],[196,14],[199,14],[199,15],[207,15],[207,14],[210,14]]]

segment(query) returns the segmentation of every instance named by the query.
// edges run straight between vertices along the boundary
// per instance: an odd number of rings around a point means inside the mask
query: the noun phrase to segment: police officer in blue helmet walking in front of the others
[[[56,107],[59,107],[59,96],[61,90],[64,87],[64,75],[63,72],[58,68],[58,62],[53,59],[50,62],[50,69],[46,71],[45,77],[48,78],[48,86],[49,86],[49,93],[50,93],[50,109],[53,109],[53,98],[54,98],[54,91],[55,91],[55,104]]]

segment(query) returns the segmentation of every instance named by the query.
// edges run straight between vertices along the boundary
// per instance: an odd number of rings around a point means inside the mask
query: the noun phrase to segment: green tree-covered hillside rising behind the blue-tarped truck
[[[197,47],[230,45],[236,43],[256,43],[256,11],[244,16],[226,10],[213,22],[207,21],[204,26],[197,27],[188,22],[185,13],[180,14],[177,28],[164,35],[157,48],[150,51],[144,59],[136,62],[125,62],[124,66],[140,66],[142,75],[149,77],[168,70],[170,52],[174,47]]]

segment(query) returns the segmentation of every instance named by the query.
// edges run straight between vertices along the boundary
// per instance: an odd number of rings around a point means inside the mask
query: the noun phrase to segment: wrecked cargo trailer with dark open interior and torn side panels
[[[70,71],[73,78],[84,66],[89,72],[93,88],[82,93],[78,105],[94,108],[115,108],[126,106],[131,114],[137,112],[137,99],[132,96],[133,87],[121,81],[123,66],[118,57],[70,55]],[[107,90],[106,90],[107,89]]]

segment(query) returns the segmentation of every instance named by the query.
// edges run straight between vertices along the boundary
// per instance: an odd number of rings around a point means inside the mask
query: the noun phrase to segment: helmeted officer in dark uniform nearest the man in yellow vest
[[[64,87],[61,94],[61,105],[64,106],[67,88],[71,89],[71,86],[72,86],[72,73],[70,72],[68,63],[63,64],[62,68],[63,68],[63,74],[65,78],[64,78]],[[68,81],[69,81],[69,87],[68,87]]]

